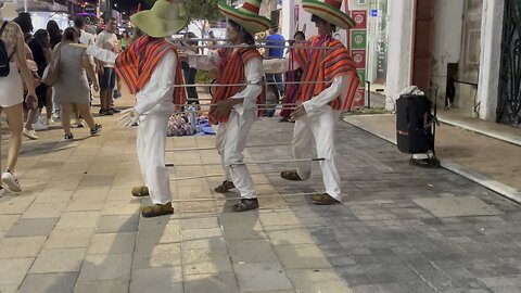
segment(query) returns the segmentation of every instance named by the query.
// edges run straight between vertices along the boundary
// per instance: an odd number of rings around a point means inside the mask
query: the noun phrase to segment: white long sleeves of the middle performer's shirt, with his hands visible
[[[209,51],[205,56],[196,58],[196,67],[202,71],[211,71],[217,68],[220,63],[220,56],[216,51]],[[244,76],[246,78],[246,87],[230,97],[230,99],[244,99],[242,103],[233,105],[233,110],[242,115],[245,110],[257,110],[257,97],[263,92],[264,67],[262,59],[252,58],[244,64]]]

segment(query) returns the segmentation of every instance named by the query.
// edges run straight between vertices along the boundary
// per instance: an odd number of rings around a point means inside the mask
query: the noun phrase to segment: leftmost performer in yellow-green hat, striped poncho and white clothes
[[[144,186],[132,189],[132,195],[150,195],[153,205],[141,209],[144,217],[173,214],[171,191],[165,167],[165,143],[168,117],[175,105],[183,104],[187,93],[177,48],[165,40],[188,24],[185,5],[179,0],[158,0],[151,10],[141,11],[130,21],[144,33],[127,51],[115,54],[96,47],[87,53],[109,63],[137,97],[137,105],[122,112],[120,124],[139,120],[137,146]]]

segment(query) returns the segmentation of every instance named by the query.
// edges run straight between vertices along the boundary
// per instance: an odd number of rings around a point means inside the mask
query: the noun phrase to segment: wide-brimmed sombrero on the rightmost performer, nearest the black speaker
[[[302,0],[302,8],[310,14],[317,15],[338,28],[348,29],[356,25],[355,21],[343,13],[340,8],[342,0]]]

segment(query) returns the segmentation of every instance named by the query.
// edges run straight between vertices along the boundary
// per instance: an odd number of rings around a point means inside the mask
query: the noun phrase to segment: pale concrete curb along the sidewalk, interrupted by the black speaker
[[[367,131],[376,137],[379,137],[383,140],[386,140],[393,144],[396,144],[396,138],[390,138],[390,137],[385,137],[385,136],[382,136],[382,135],[379,135],[379,133],[374,133],[372,132],[371,130],[369,130],[367,127],[365,127],[365,125],[363,123],[359,123],[359,122],[356,122],[356,120],[348,120],[348,117],[344,117],[344,122],[345,123],[348,123],[364,131]],[[471,129],[470,129],[471,130]],[[473,131],[473,130],[472,130]],[[481,133],[481,132],[480,132]],[[510,141],[509,141],[510,142]],[[514,143],[517,144],[517,143]],[[517,203],[521,203],[521,192],[514,188],[511,188],[509,186],[506,186],[501,182],[498,182],[496,180],[492,180],[490,178],[487,178],[486,176],[482,175],[482,174],[479,174],[479,173],[475,173],[469,168],[466,168],[459,164],[456,164],[456,163],[453,163],[453,162],[449,162],[449,161],[441,161],[441,166],[452,173],[455,173],[461,177],[465,177],[467,179],[469,179],[470,181],[472,182],[475,182],[486,189],[490,189],[511,201],[514,201]]]

